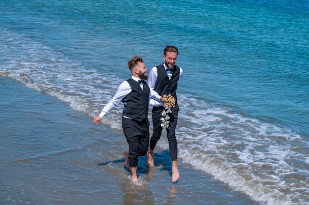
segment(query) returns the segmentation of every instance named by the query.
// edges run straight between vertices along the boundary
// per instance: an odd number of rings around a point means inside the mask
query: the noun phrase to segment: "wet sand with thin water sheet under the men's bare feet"
[[[160,147],[154,168],[140,157],[132,184],[122,131],[94,126],[67,103],[10,78],[0,78],[0,96],[0,204],[258,205],[181,159],[172,183],[169,153]]]

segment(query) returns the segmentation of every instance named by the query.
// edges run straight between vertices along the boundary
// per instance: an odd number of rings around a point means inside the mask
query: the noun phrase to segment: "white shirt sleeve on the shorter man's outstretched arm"
[[[118,87],[114,97],[107,103],[107,105],[102,109],[100,113],[100,117],[104,117],[106,114],[111,112],[120,102],[121,100],[127,96],[132,91],[129,83],[127,81],[123,81]]]

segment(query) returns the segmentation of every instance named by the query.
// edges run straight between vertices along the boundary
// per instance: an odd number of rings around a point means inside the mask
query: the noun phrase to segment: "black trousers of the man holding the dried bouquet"
[[[161,113],[163,111],[164,107],[153,107],[153,124],[154,124],[154,131],[153,135],[150,139],[150,149],[154,149],[157,141],[161,137],[162,133],[162,127],[161,127],[161,120],[160,118],[162,117]],[[175,130],[176,130],[176,125],[177,125],[177,120],[178,120],[178,111],[179,111],[179,106],[178,104],[171,108],[172,113],[169,113],[169,127],[166,128],[166,134],[167,134],[167,140],[169,143],[169,153],[171,155],[172,159],[177,159],[177,140],[175,136]]]

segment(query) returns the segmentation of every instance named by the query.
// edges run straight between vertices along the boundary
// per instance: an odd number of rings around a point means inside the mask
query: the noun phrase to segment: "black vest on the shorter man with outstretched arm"
[[[147,119],[150,88],[144,84],[144,90],[133,79],[127,80],[132,91],[122,99],[124,103],[122,116],[130,117],[138,121]]]

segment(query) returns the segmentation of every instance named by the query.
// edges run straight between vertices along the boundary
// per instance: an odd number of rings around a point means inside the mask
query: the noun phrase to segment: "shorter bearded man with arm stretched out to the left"
[[[93,124],[98,124],[120,101],[124,103],[122,128],[129,145],[129,151],[123,153],[124,164],[127,168],[130,167],[131,180],[136,182],[138,157],[147,155],[149,146],[148,105],[150,88],[144,81],[148,79],[148,76],[141,57],[135,56],[129,60],[128,67],[132,73],[131,78],[120,84],[114,97],[103,108],[100,115],[93,119]]]

